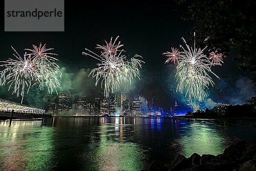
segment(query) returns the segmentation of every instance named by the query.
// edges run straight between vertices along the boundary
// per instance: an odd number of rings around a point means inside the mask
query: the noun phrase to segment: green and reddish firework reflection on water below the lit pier
[[[50,170],[51,129],[38,128],[40,122],[2,122],[0,133],[0,170]],[[39,161],[39,162],[38,162]],[[44,169],[43,169],[44,168]]]

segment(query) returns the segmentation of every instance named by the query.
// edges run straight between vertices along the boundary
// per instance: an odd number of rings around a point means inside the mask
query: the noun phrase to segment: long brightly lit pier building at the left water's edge
[[[9,101],[5,99],[0,99],[0,112],[12,112],[15,113],[33,113],[33,114],[43,114],[45,110],[38,109],[34,107],[29,107],[24,104],[16,103],[14,101]]]

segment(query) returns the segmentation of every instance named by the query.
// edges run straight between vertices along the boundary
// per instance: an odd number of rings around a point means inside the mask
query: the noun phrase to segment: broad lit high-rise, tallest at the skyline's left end
[[[70,107],[71,93],[60,92],[58,95],[58,104],[56,108],[56,113],[62,113],[63,111],[71,110]]]

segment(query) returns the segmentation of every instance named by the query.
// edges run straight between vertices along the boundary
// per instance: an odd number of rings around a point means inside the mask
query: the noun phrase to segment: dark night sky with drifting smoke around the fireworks
[[[2,2],[3,3],[3,2]],[[2,5],[4,13],[4,6]],[[119,91],[128,94],[130,100],[138,93],[147,99],[156,94],[157,104],[167,108],[177,100],[186,104],[184,98],[176,91],[173,68],[164,64],[163,52],[171,47],[178,47],[181,37],[193,28],[192,21],[181,20],[186,12],[184,6],[176,3],[99,3],[87,1],[65,1],[65,32],[4,32],[4,19],[0,27],[0,61],[13,58],[13,46],[23,54],[32,44],[47,43],[58,54],[58,64],[63,72],[62,89],[70,90],[73,100],[79,95],[88,97],[102,96],[102,89],[95,86],[95,80],[88,78],[88,73],[96,67],[97,61],[81,55],[84,48],[94,51],[96,44],[109,41],[111,37],[120,36],[126,55],[143,56],[145,64],[141,71],[141,81],[133,80],[132,85],[122,85]],[[210,87],[208,98],[215,102],[228,104],[245,103],[253,96],[250,86],[251,73],[240,71],[230,52],[224,60],[223,67],[215,67],[213,71],[221,78],[214,78],[215,86]],[[6,92],[6,86],[0,88],[0,98],[20,101],[12,92]],[[33,97],[31,99],[30,97]],[[29,105],[38,105],[41,101],[38,90],[30,91],[24,101]],[[209,99],[206,99],[209,101]]]

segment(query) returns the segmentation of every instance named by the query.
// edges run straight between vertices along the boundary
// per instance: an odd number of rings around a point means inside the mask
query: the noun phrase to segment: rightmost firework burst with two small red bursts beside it
[[[180,93],[185,92],[185,96],[188,96],[189,101],[192,102],[192,99],[195,101],[202,101],[207,97],[205,89],[209,89],[209,86],[213,86],[214,82],[210,76],[214,75],[219,78],[215,73],[212,72],[211,67],[215,65],[221,65],[223,61],[222,58],[211,56],[207,58],[204,55],[204,49],[197,49],[189,47],[182,38],[186,47],[180,45],[181,52],[177,49],[172,48],[172,52],[164,53],[168,59],[166,63],[171,61],[173,64],[177,63],[176,74],[177,77],[177,89]],[[211,60],[211,61],[210,61]]]

